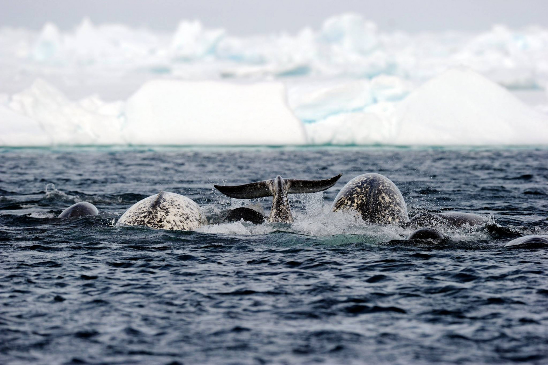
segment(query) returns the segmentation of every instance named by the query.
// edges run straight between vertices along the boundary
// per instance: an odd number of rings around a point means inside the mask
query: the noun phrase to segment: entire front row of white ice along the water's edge
[[[546,114],[468,69],[450,69],[409,95],[406,83],[394,76],[318,85],[294,86],[287,93],[286,86],[276,81],[156,80],[145,83],[125,102],[106,103],[97,96],[73,102],[38,80],[0,105],[0,142],[10,146],[548,144]]]

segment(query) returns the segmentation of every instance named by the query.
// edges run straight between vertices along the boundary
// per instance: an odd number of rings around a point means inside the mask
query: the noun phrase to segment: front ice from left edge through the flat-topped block
[[[105,103],[72,102],[37,80],[0,105],[0,130],[4,146],[307,143],[280,82],[157,80],[127,102]]]

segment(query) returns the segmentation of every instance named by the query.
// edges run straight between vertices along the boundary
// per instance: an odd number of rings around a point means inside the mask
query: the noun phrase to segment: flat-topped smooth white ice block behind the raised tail
[[[146,82],[125,105],[122,133],[133,144],[306,144],[281,82]]]

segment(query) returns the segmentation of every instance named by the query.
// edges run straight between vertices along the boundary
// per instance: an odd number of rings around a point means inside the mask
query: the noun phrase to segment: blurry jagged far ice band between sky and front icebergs
[[[53,67],[70,75],[87,70],[187,75],[193,77],[365,77],[394,75],[424,82],[453,66],[466,66],[509,88],[548,83],[548,29],[495,25],[471,34],[386,32],[358,14],[341,14],[319,29],[296,34],[236,37],[183,20],[173,33],[82,20],[61,31],[0,29],[0,57],[14,71]],[[197,64],[207,61],[207,63]],[[24,68],[19,66],[23,63]]]

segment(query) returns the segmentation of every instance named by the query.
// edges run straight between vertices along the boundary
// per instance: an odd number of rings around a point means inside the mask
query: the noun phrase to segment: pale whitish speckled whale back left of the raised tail
[[[193,231],[207,224],[201,207],[184,195],[159,192],[135,203],[116,226],[147,226],[155,229]]]

